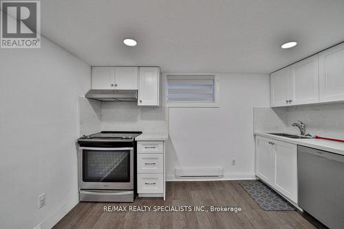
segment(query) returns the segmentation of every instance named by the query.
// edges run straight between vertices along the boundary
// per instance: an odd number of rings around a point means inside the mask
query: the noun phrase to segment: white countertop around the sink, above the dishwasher
[[[281,136],[272,135],[272,134],[263,133],[263,132],[255,132],[254,134],[262,136],[262,137],[266,137],[266,138],[280,140],[283,142],[290,142],[293,144],[299,144],[301,146],[308,146],[314,149],[320,149],[323,151],[329,151],[332,153],[338,153],[338,154],[344,155],[344,143],[342,142],[334,142],[334,141],[321,140],[321,139],[316,139],[316,138],[310,138],[310,139],[286,138],[286,137],[281,137]]]

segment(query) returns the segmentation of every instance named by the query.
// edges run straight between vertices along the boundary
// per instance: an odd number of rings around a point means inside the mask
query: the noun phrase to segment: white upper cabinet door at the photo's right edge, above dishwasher
[[[344,100],[344,44],[319,54],[319,100]]]

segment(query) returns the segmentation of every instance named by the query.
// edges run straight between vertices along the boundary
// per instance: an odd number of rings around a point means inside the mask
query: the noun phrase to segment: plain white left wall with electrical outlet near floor
[[[91,68],[42,37],[0,50],[0,228],[48,228],[78,202],[78,96]],[[38,197],[46,194],[46,206]]]

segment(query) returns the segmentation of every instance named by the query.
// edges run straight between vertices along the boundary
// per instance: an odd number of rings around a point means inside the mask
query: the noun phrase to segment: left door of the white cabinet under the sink
[[[255,173],[257,177],[272,184],[272,144],[270,138],[255,138]]]

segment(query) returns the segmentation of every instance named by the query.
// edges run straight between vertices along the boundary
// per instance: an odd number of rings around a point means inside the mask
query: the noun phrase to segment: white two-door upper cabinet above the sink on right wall
[[[270,75],[271,107],[319,102],[318,55]]]

